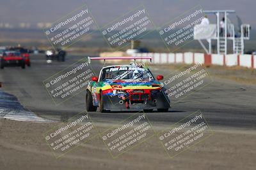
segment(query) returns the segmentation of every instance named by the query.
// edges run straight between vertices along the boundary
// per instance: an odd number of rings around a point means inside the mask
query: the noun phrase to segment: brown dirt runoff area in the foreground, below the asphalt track
[[[99,137],[56,159],[42,134],[57,123],[0,119],[0,169],[255,169],[256,131],[212,127],[212,136],[172,159],[157,136],[113,159]],[[106,129],[106,124],[102,129]],[[156,129],[162,129],[157,127]],[[228,129],[228,130],[227,130]],[[157,131],[158,131],[157,130]]]

